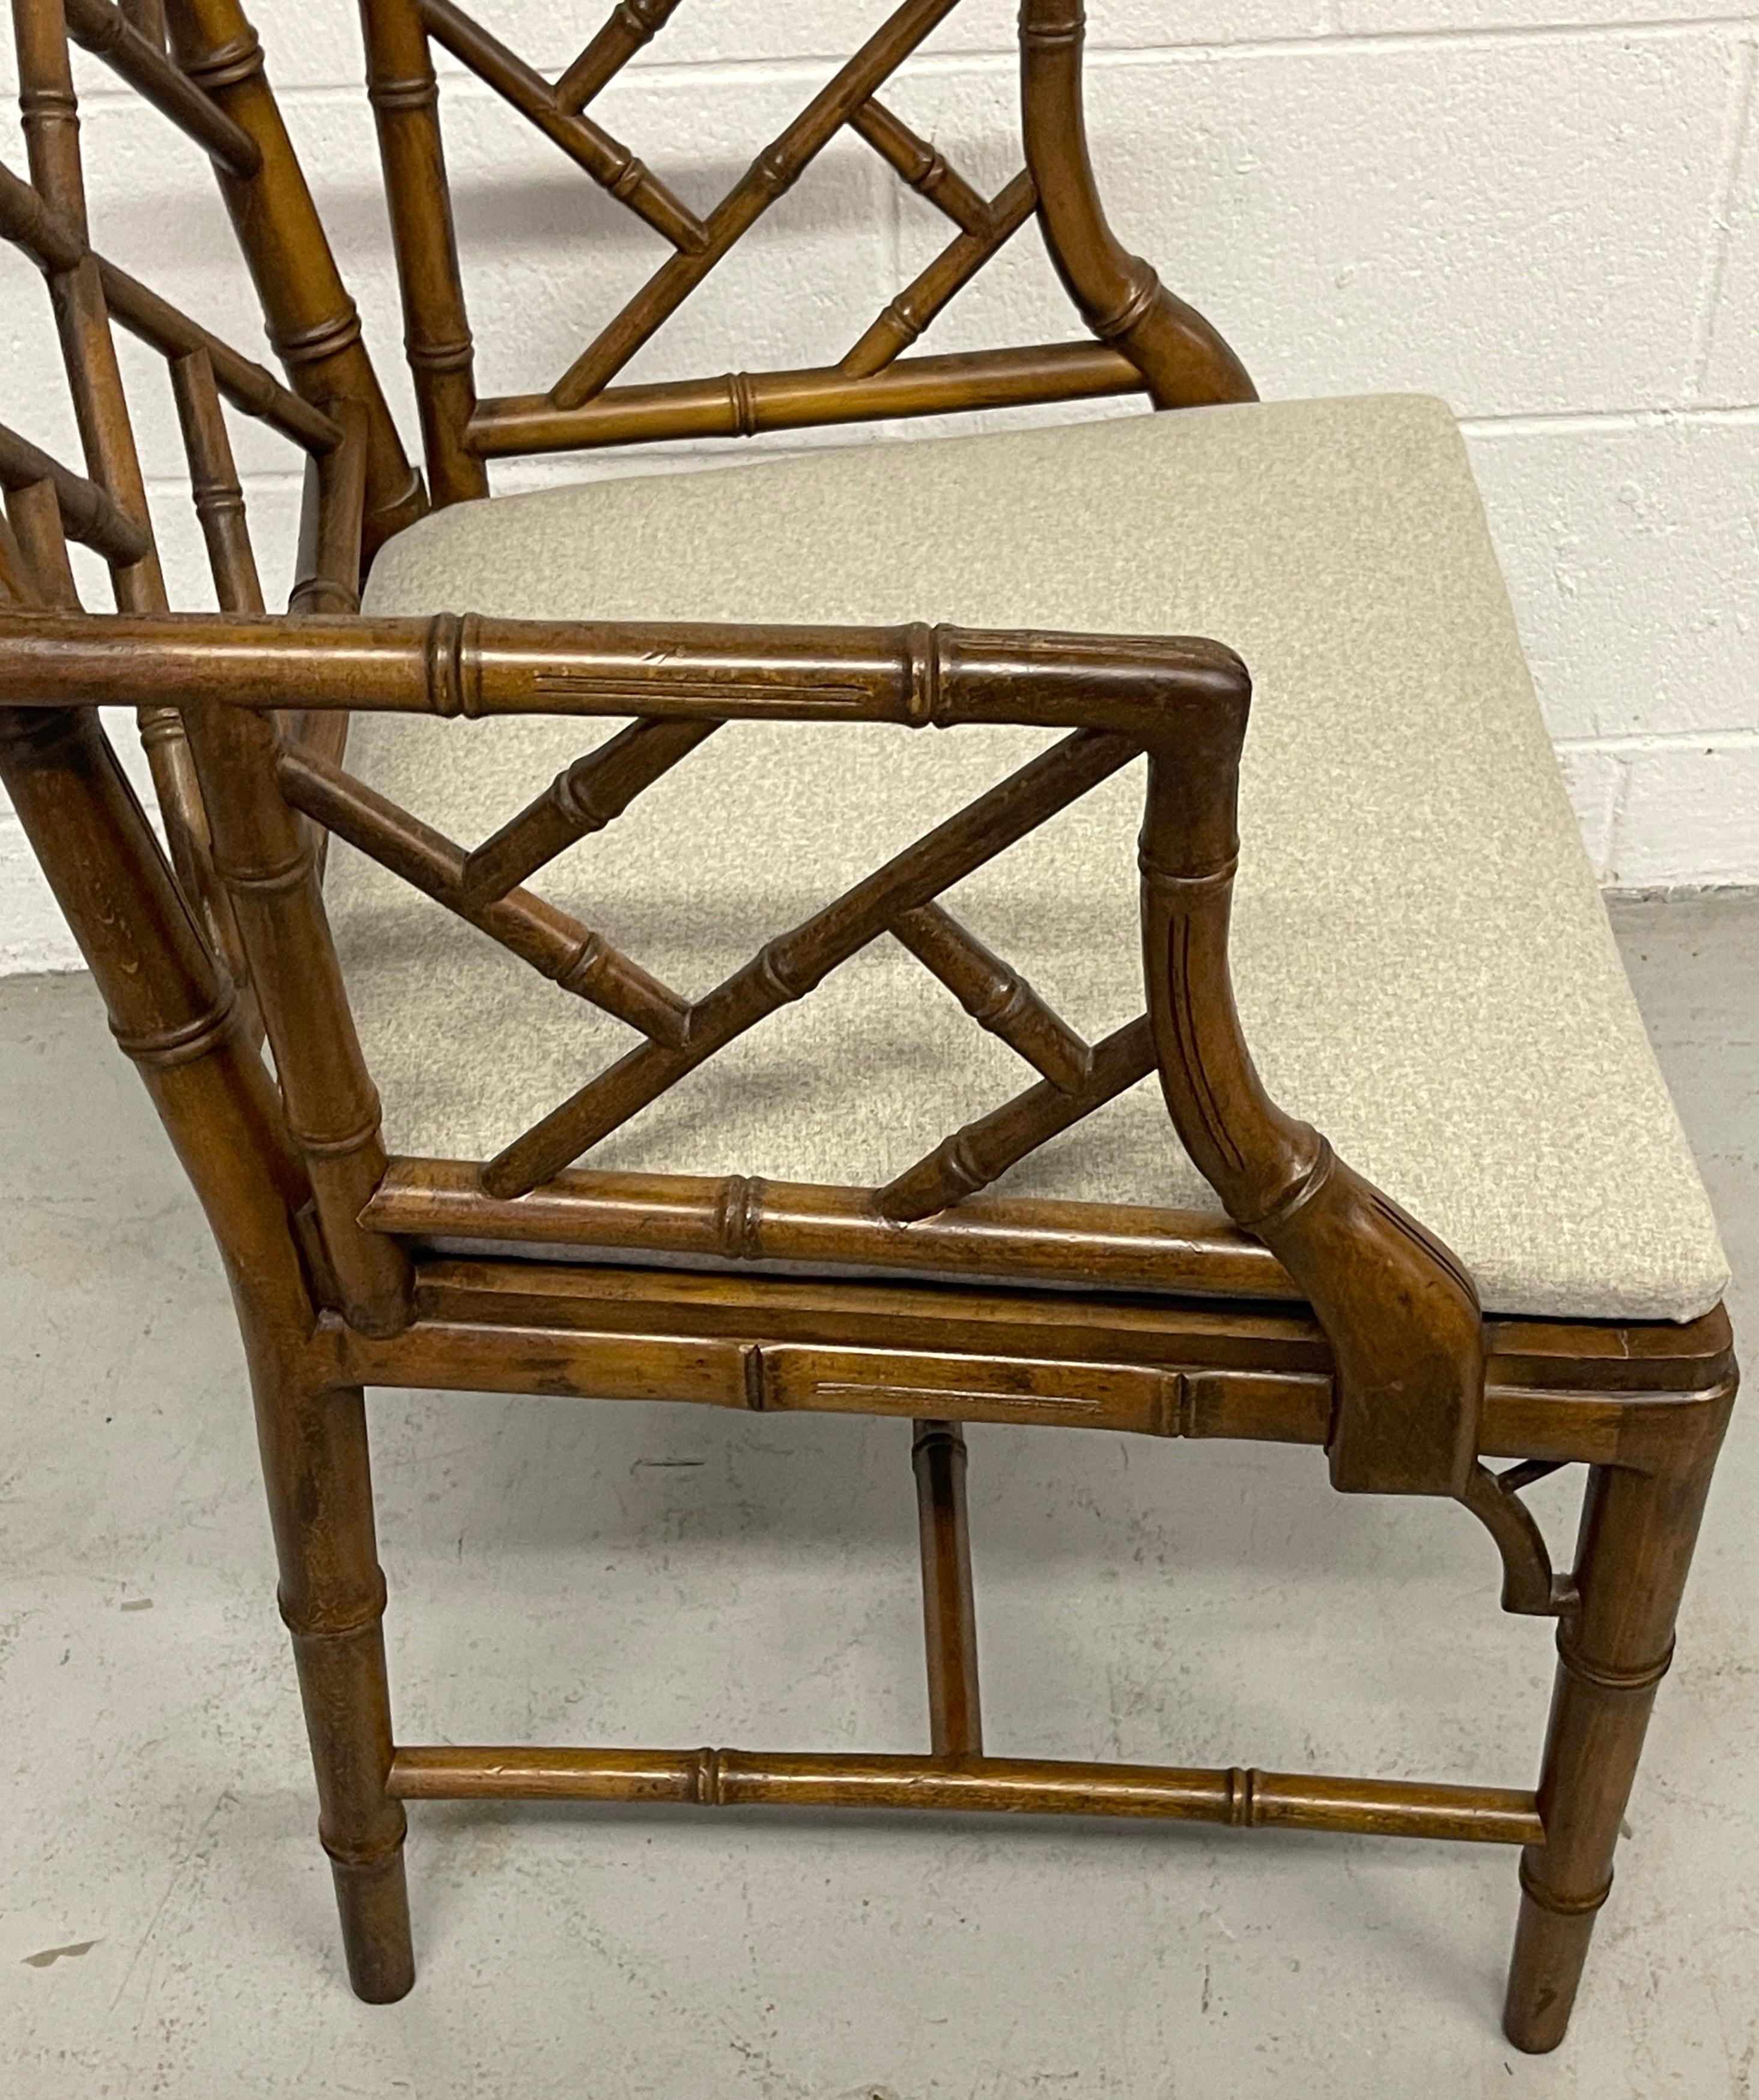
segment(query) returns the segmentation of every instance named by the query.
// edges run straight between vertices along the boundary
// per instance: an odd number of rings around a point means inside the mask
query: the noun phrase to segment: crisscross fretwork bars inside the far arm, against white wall
[[[957,227],[955,239],[873,321],[842,361],[852,378],[884,370],[1026,223],[1033,183],[1014,176],[980,195],[947,158],[877,101],[877,90],[957,0],[907,0],[842,71],[770,141],[707,218],[626,145],[586,116],[588,103],[676,13],[678,0],[623,0],[552,86],[451,0],[420,0],[428,36],[554,141],[602,189],[663,235],[676,254],[550,391],[554,407],[598,395],[844,128],[865,139],[896,174]]]

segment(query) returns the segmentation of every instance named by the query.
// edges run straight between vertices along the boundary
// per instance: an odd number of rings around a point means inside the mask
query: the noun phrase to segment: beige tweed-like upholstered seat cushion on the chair
[[[1234,979],[1272,1094],[1436,1228],[1488,1308],[1686,1319],[1725,1262],[1440,401],[911,439],[462,504],[367,609],[1209,634],[1255,680]],[[361,718],[351,766],[474,844],[617,724]],[[699,995],[1050,741],[735,724],[533,888]],[[1089,1040],[1142,1008],[1142,766],[947,897]],[[485,1157],[632,1046],[338,848],[393,1151]],[[1035,1073],[892,939],[584,1166],[884,1182]],[[1152,1079],[1003,1193],[1217,1208]]]

